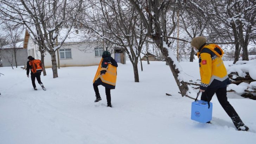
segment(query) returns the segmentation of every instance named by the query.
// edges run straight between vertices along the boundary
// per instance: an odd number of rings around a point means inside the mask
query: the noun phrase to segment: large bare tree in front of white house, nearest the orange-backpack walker
[[[10,2],[2,0],[0,11],[6,17],[5,19],[27,27],[39,45],[41,60],[45,50],[51,55],[53,78],[57,78],[56,51],[68,37],[74,19],[76,19],[77,14],[81,11],[82,1],[13,0]],[[63,37],[58,40],[58,45],[56,45],[56,40],[59,36],[58,30],[65,24],[68,25],[68,28]]]

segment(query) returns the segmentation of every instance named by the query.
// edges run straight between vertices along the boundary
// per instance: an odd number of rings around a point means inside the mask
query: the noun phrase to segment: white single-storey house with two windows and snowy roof
[[[60,31],[60,37],[64,33],[64,31]],[[28,55],[31,55],[35,59],[41,59],[38,46],[33,42],[33,35],[28,33],[28,31],[25,33],[24,48],[27,48]],[[104,50],[105,48],[104,45],[102,46],[102,42],[83,42],[75,31],[71,32],[64,41],[64,44],[59,48],[60,67],[98,65]],[[113,53],[113,58],[114,55]],[[44,64],[46,68],[52,67],[51,55],[48,52],[45,53]]]

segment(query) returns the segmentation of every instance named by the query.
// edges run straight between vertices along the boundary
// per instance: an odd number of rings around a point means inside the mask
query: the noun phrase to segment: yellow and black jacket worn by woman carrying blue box
[[[197,56],[201,76],[201,90],[213,87],[225,87],[230,80],[222,61],[223,50],[215,44],[203,45]]]

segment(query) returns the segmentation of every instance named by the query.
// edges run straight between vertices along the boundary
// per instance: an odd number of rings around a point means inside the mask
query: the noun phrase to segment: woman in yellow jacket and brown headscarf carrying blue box
[[[244,125],[226,96],[226,88],[230,84],[230,80],[222,61],[224,54],[222,48],[216,44],[206,44],[205,37],[193,38],[191,46],[197,51],[199,58],[201,100],[210,102],[216,93],[220,105],[232,119],[237,130],[248,131],[249,128]]]

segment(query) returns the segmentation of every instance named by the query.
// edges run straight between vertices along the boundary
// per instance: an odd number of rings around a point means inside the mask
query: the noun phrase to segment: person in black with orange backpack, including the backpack
[[[31,80],[34,90],[37,90],[35,84],[36,78],[40,86],[43,88],[43,90],[46,90],[40,78],[41,72],[43,71],[41,61],[39,59],[34,59],[32,56],[28,56],[27,59],[27,77],[29,78],[29,70],[31,70]]]

